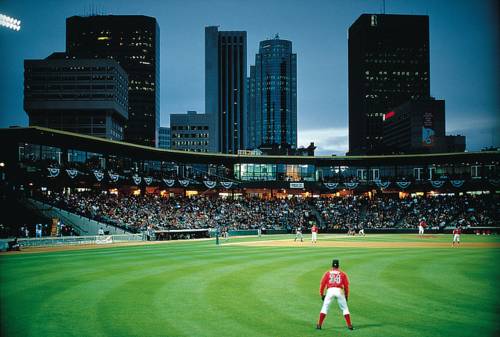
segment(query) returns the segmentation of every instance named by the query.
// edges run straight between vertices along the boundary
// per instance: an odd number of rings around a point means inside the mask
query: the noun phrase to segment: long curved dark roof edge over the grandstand
[[[0,129],[2,144],[33,143],[48,146],[91,151],[102,154],[124,155],[143,160],[177,161],[190,163],[268,163],[268,164],[312,164],[317,166],[342,165],[391,165],[405,163],[452,163],[471,160],[500,159],[500,151],[433,153],[378,156],[270,156],[236,155],[222,153],[199,153],[165,150],[121,141],[103,139],[67,131],[38,126]]]

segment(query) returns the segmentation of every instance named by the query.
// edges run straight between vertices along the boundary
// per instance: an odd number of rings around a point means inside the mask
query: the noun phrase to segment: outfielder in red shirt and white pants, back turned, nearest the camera
[[[326,295],[323,295],[325,289]],[[323,300],[323,306],[321,307],[321,311],[319,313],[319,320],[316,325],[316,329],[321,329],[326,314],[328,313],[330,303],[332,302],[332,299],[335,298],[339,304],[340,310],[342,310],[347,327],[349,330],[354,330],[354,327],[351,324],[349,308],[347,307],[347,301],[349,298],[349,279],[347,278],[347,275],[339,269],[339,260],[333,260],[332,269],[323,275],[319,287],[319,295]]]

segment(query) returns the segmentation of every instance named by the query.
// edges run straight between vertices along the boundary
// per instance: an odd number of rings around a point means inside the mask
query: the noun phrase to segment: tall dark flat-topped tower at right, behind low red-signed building
[[[361,15],[349,28],[349,154],[384,152],[383,116],[429,96],[429,17]]]

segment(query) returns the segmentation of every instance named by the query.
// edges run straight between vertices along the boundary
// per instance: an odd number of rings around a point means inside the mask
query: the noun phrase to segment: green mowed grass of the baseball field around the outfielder
[[[415,235],[329,240],[415,241]],[[293,238],[265,237],[261,240]],[[320,240],[322,236],[320,235]],[[323,237],[326,239],[326,236]],[[309,236],[306,236],[306,240]],[[230,239],[257,240],[255,237]],[[451,242],[451,235],[423,239]],[[499,242],[463,235],[463,241]],[[349,275],[345,328],[319,281]],[[215,246],[214,241],[0,256],[2,336],[498,336],[498,248]]]

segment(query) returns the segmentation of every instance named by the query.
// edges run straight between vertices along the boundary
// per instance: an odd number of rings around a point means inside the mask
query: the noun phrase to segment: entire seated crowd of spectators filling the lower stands
[[[45,201],[82,216],[135,232],[154,229],[224,227],[229,230],[309,228],[317,220],[323,229],[429,228],[498,225],[495,195],[391,198],[222,198],[114,195],[105,192],[51,193]],[[317,217],[316,217],[317,216]]]

